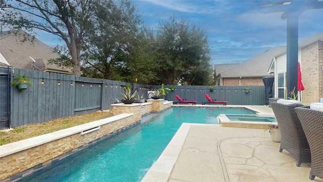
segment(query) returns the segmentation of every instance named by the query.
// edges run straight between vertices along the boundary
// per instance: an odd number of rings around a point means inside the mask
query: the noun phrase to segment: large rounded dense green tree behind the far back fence
[[[197,81],[201,71],[212,74],[207,36],[201,28],[185,20],[170,18],[159,23],[155,48],[159,84],[174,85],[180,81],[207,84],[207,80]]]

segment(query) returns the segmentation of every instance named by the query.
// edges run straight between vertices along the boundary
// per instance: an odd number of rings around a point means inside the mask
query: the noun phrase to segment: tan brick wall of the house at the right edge
[[[318,40],[301,49],[302,103],[320,102],[323,97],[323,41]]]

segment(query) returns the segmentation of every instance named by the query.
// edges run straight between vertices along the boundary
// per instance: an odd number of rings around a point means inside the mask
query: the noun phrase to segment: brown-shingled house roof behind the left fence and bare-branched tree
[[[19,30],[18,34],[25,34]],[[72,74],[71,69],[62,68],[55,64],[48,64],[49,59],[58,58],[53,49],[38,39],[31,41],[32,36],[27,34],[27,39],[22,42],[22,36],[16,36],[13,31],[0,33],[0,66],[14,67],[42,72],[56,72]]]

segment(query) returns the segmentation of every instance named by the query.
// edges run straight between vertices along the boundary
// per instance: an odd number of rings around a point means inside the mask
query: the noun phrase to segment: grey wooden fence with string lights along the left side
[[[11,86],[11,127],[112,109],[114,99],[121,99],[124,86],[130,84],[16,68],[11,70],[11,80],[19,73],[30,77],[34,85],[23,93]]]

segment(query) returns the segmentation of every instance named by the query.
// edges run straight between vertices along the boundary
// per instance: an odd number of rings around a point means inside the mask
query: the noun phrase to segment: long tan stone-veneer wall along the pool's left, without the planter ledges
[[[49,134],[52,136],[56,136],[59,135],[59,133],[73,133],[73,130],[75,130],[75,128],[80,128],[82,127],[82,125],[0,146],[0,154],[2,156],[0,158],[0,180],[13,181],[15,179],[24,177],[32,173],[33,171],[39,169],[40,167],[47,166],[52,160],[59,158],[61,155],[64,155],[73,150],[77,150],[81,146],[88,145],[92,141],[104,138],[104,136],[114,133],[117,130],[121,130],[122,128],[127,128],[127,126],[133,125],[134,123],[139,124],[139,122],[137,121],[138,120],[135,120],[134,116],[131,115],[118,121],[109,122],[107,124],[101,125],[100,129],[83,135],[81,135],[80,132],[77,132],[72,135],[65,136],[64,138],[44,143],[38,146],[31,146],[31,148],[28,148],[26,150],[22,150],[5,156],[3,156],[3,154],[8,148],[22,146],[24,145],[24,143],[31,144],[32,142],[39,142],[40,140],[42,140],[42,138],[50,138]],[[46,137],[46,135],[48,135],[49,137]]]

